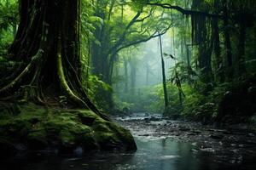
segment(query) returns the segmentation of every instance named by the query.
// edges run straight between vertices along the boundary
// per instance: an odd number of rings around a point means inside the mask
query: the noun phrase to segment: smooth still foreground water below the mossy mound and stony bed
[[[128,119],[132,119],[130,117]],[[142,118],[137,116],[137,118]],[[143,135],[142,133],[143,132]],[[133,133],[137,152],[101,152],[81,156],[57,156],[47,151],[16,156],[0,161],[1,170],[213,170],[255,169],[213,161],[211,152],[195,150],[195,145],[168,136],[151,135],[145,129]]]

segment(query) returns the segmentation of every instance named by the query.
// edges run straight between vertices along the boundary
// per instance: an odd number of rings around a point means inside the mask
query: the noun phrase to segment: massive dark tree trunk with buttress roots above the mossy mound
[[[78,16],[79,0],[20,0],[20,25],[9,54],[25,65],[4,81],[1,97],[49,104],[66,96],[69,104],[108,119],[80,83]]]

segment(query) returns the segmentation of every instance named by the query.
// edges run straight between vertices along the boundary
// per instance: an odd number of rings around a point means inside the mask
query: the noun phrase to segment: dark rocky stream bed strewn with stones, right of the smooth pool
[[[256,169],[256,133],[248,129],[247,125],[214,127],[200,122],[174,121],[160,115],[150,116],[147,113],[115,119],[130,129],[135,137],[190,143],[193,145],[190,151],[197,158],[210,159],[217,167],[223,165],[224,169]]]

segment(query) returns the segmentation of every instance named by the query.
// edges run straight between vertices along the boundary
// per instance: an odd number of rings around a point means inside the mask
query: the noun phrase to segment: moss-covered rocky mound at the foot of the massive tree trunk
[[[1,104],[0,137],[29,150],[57,148],[73,152],[136,150],[131,133],[88,110],[63,110],[26,104]],[[6,143],[6,142],[5,142]]]

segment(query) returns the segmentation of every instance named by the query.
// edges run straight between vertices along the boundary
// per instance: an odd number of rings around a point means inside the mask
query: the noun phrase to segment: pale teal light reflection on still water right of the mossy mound
[[[177,143],[172,139],[145,138],[137,139],[137,153],[145,153],[143,159],[148,163],[139,163],[140,169],[198,169],[197,161],[191,152],[192,145],[187,143]],[[137,161],[139,156],[133,159]]]

